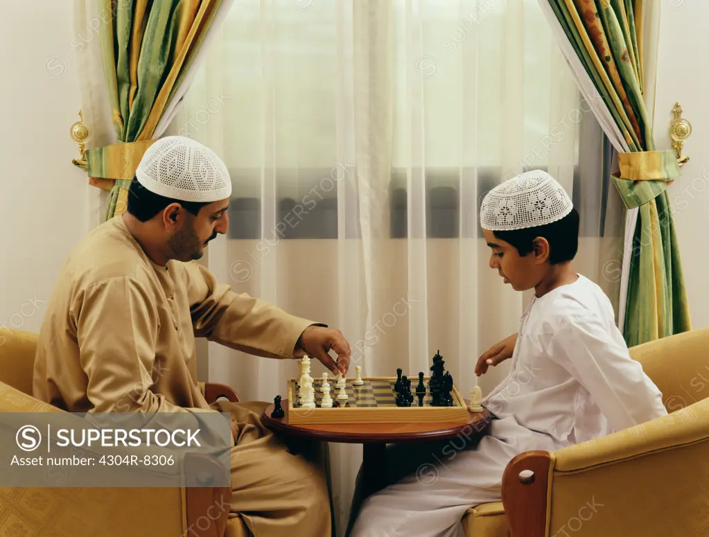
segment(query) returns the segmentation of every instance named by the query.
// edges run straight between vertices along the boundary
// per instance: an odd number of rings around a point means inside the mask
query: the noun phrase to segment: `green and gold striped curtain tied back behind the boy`
[[[673,152],[654,146],[652,119],[644,105],[642,1],[548,1],[588,77],[603,98],[632,152],[637,171],[613,181],[626,208],[638,208],[625,308],[628,346],[691,329],[667,181],[679,176]],[[630,155],[630,154],[625,154]],[[623,154],[619,155],[622,161]],[[641,164],[642,163],[642,164]],[[627,169],[628,166],[626,166]]]

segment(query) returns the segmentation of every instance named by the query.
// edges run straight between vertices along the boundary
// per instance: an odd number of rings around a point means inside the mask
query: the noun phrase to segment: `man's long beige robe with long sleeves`
[[[154,264],[114,217],[84,237],[57,278],[34,395],[69,412],[230,412],[238,423],[232,510],[256,537],[329,537],[323,475],[262,426],[265,404],[210,407],[196,376],[195,337],[293,358],[310,324],[234,293],[198,264]]]

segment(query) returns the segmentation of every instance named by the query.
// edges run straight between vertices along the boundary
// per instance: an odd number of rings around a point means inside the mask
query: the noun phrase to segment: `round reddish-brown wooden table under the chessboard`
[[[468,423],[378,423],[291,425],[288,423],[288,400],[281,402],[284,417],[272,418],[274,405],[261,415],[262,422],[284,436],[325,442],[362,444],[362,480],[365,494],[373,494],[386,486],[386,444],[420,441],[441,441],[482,434],[490,423],[490,414],[468,412]]]

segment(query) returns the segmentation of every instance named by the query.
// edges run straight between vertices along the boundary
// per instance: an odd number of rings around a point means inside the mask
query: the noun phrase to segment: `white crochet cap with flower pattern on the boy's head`
[[[484,230],[510,231],[561,220],[574,205],[546,171],[525,171],[493,188],[480,208]]]

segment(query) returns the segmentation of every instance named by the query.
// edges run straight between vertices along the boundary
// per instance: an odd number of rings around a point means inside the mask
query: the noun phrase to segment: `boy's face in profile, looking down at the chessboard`
[[[540,244],[540,249],[532,250],[526,256],[520,256],[512,244],[498,239],[489,230],[483,230],[485,241],[492,249],[490,256],[490,268],[497,269],[498,274],[505,278],[504,282],[509,283],[515,291],[525,291],[536,286],[545,273],[545,261],[547,255],[543,250],[548,244]],[[546,243],[545,239],[541,239]]]

